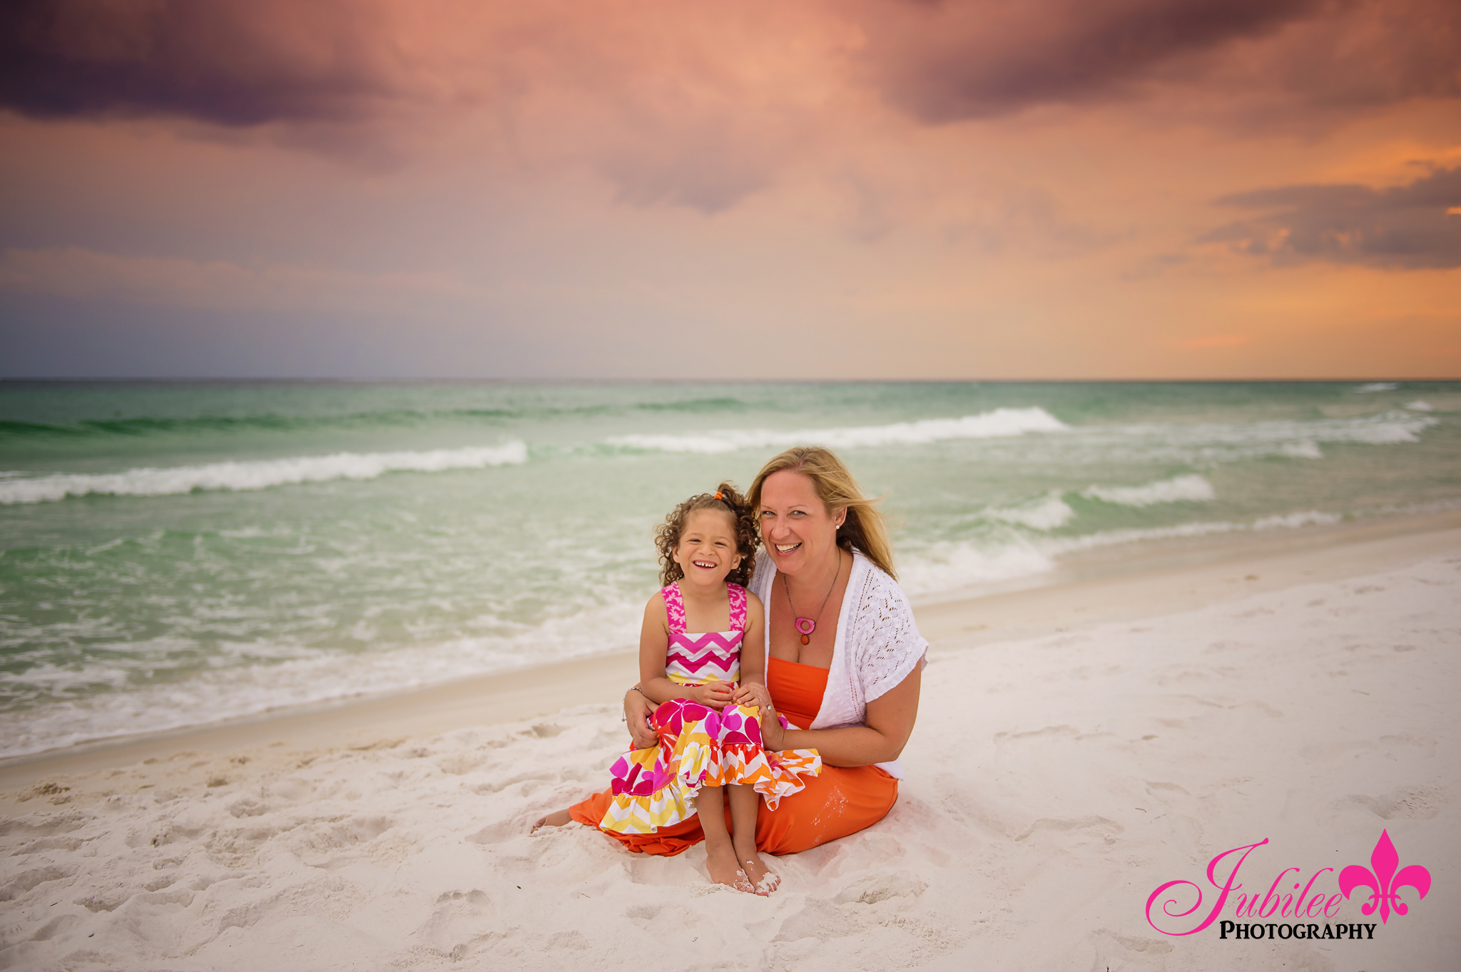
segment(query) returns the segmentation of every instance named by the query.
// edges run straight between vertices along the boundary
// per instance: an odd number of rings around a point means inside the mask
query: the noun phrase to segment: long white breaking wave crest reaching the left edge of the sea
[[[424,452],[336,452],[171,468],[130,468],[124,473],[35,476],[0,482],[0,504],[41,504],[88,495],[172,496],[194,489],[269,489],[332,479],[375,479],[394,471],[438,473],[526,461],[526,444],[504,442]]]

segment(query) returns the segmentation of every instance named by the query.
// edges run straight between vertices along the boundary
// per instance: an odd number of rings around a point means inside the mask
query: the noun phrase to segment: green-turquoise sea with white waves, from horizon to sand
[[[1461,505],[1461,384],[0,382],[0,756],[633,644],[650,530],[789,444],[916,598]]]

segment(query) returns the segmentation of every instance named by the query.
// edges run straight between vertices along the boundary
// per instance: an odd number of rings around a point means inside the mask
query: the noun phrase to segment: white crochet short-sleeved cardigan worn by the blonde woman
[[[751,593],[766,604],[767,620],[771,617],[770,594],[774,579],[776,565],[763,547],[755,552]],[[903,588],[861,550],[853,550],[852,576],[842,598],[837,641],[833,644],[831,667],[827,671],[827,692],[809,728],[863,725],[868,702],[900,684],[913,671],[913,666],[928,664],[925,652],[928,641],[918,633],[913,609],[909,607]],[[770,623],[766,626],[766,658],[770,666]],[[899,760],[877,765],[903,779]]]

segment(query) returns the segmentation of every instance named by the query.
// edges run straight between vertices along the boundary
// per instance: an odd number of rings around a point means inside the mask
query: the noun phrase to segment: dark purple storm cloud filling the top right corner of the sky
[[[1093,102],[1140,85],[1388,104],[1461,93],[1455,0],[868,0],[868,63],[932,123]]]

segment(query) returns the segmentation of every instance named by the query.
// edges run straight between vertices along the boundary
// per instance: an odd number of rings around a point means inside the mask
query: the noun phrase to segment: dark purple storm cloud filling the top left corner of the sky
[[[0,107],[224,126],[356,118],[393,93],[370,3],[9,0]]]

